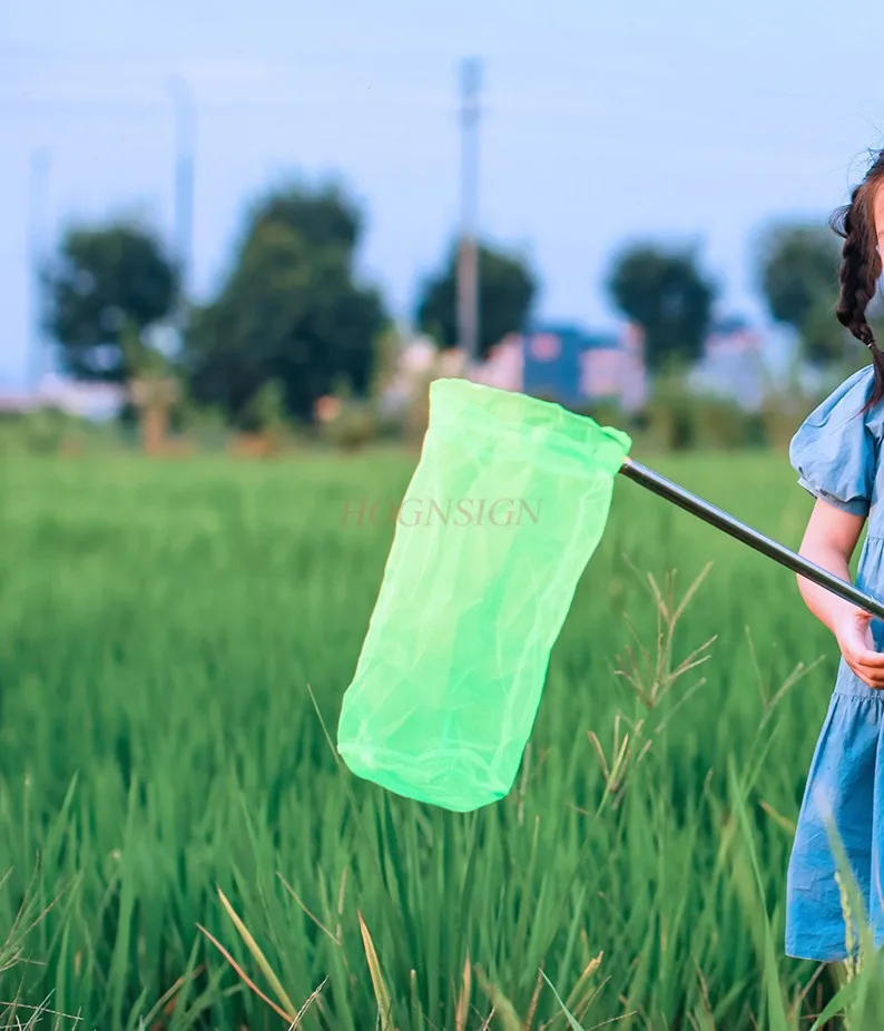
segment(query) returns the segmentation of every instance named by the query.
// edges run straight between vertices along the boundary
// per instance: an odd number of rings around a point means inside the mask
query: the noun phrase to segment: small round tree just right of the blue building
[[[616,258],[608,289],[619,311],[645,331],[651,369],[700,356],[716,288],[691,252],[629,247]]]

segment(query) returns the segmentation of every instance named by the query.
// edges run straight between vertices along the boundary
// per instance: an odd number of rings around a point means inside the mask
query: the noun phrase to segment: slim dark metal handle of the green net
[[[849,601],[863,611],[871,612],[873,616],[877,616],[878,619],[884,619],[884,603],[881,601],[870,598],[858,588],[854,587],[853,583],[848,583],[846,580],[833,576],[819,566],[808,562],[807,559],[802,558],[802,556],[796,554],[794,551],[789,551],[788,548],[784,548],[783,544],[778,544],[757,530],[753,530],[752,527],[745,526],[745,523],[739,522],[733,516],[728,516],[727,512],[723,512],[721,509],[717,509],[715,505],[709,504],[708,501],[704,501],[696,494],[691,494],[670,480],[665,479],[656,472],[651,472],[650,469],[646,469],[644,465],[639,465],[637,462],[627,459],[620,469],[620,473],[628,480],[632,480],[633,483],[640,484],[658,497],[671,501],[672,504],[678,505],[686,512],[690,512],[691,516],[697,516],[704,522],[709,523],[709,526],[718,530],[724,530],[725,533],[741,541],[744,544],[748,544],[755,551],[773,559],[780,566],[785,566],[786,569],[790,569],[806,580],[811,580],[813,583],[825,588],[838,598],[844,599],[844,601]]]

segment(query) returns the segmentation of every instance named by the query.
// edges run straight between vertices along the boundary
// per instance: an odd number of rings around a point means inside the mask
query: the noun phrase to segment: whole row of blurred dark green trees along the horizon
[[[311,421],[320,397],[370,392],[391,333],[381,292],[356,275],[363,233],[362,213],[337,187],[271,192],[248,210],[214,296],[196,305],[181,297],[175,258],[150,226],[70,226],[43,269],[45,325],[78,380],[173,377],[234,425],[255,416],[273,384],[287,416]],[[838,242],[822,224],[775,226],[759,242],[760,295],[816,366],[847,353],[832,315],[838,259]],[[479,268],[485,356],[526,326],[539,283],[523,257],[488,243]],[[631,243],[613,256],[606,287],[616,310],[644,328],[652,373],[700,355],[720,286],[696,246]],[[456,346],[455,248],[420,284],[413,316],[440,348]],[[175,320],[184,333],[170,353],[155,344],[155,331]]]

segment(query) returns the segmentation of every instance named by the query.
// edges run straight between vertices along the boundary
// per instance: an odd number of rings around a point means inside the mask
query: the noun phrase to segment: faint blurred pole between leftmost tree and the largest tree
[[[190,267],[194,246],[194,151],[196,114],[190,89],[184,78],[174,76],[169,82],[175,117],[174,166],[174,233],[175,261],[178,267],[178,296],[175,300],[175,328],[180,350],[187,326],[187,298],[190,286]]]

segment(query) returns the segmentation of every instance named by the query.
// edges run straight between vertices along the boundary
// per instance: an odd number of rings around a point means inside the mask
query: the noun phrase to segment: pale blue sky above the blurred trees
[[[611,261],[650,240],[697,246],[720,313],[762,321],[759,233],[823,223],[884,146],[882,39],[881,0],[0,0],[0,387],[32,369],[35,246],[128,214],[171,239],[176,78],[197,300],[256,198],[333,178],[360,274],[411,315],[456,232],[477,57],[480,230],[530,261],[540,317],[613,325]]]

